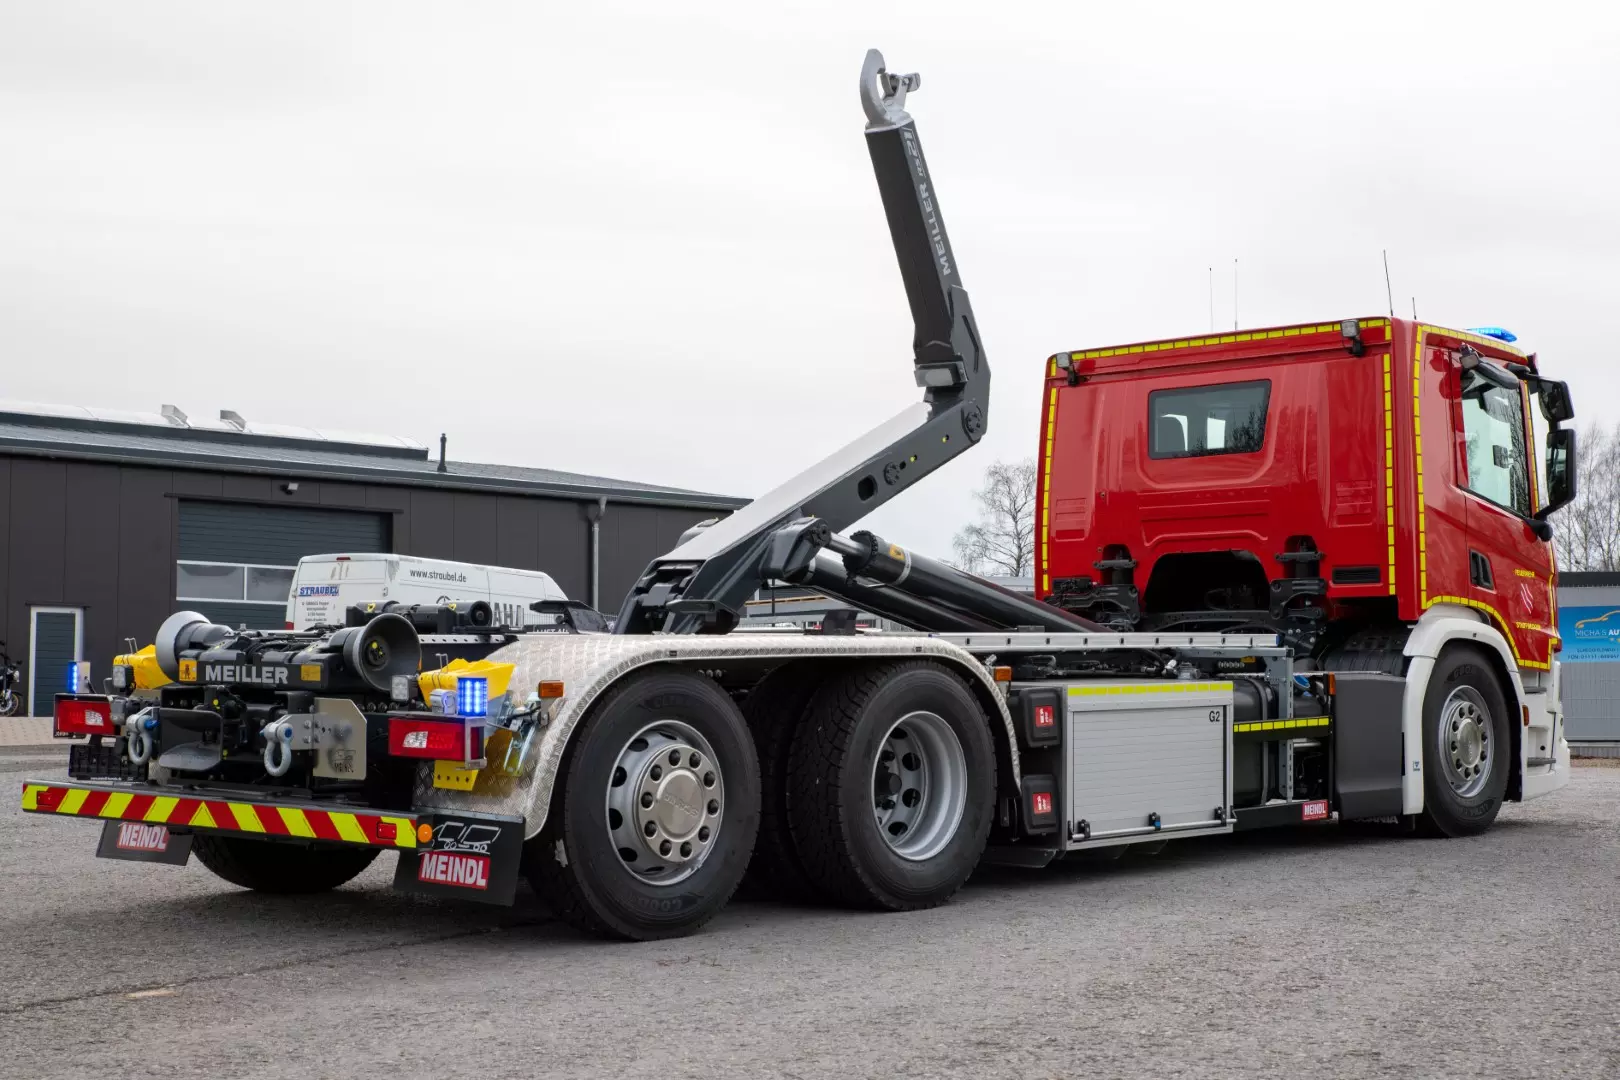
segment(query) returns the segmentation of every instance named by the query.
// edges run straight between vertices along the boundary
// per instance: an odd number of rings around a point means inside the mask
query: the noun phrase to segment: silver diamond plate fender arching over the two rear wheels
[[[525,837],[533,837],[544,827],[551,808],[551,789],[557,780],[562,753],[569,738],[591,704],[627,674],[656,664],[680,664],[698,670],[723,667],[737,659],[805,657],[872,657],[917,659],[933,657],[949,664],[964,678],[972,680],[996,703],[996,712],[1008,735],[1008,767],[1014,789],[1019,784],[1017,737],[1006,701],[995,682],[972,653],[938,638],[920,635],[872,635],[872,636],[782,636],[782,635],[724,635],[724,636],[661,636],[661,635],[523,635],[512,644],[497,649],[491,661],[515,664],[512,674],[514,701],[522,701],[530,688],[541,680],[561,680],[567,696],[552,721],[541,729],[538,746],[517,777],[501,776],[486,769],[470,792],[452,792],[433,785],[433,763],[416,769],[415,806],[421,810],[463,810],[486,814],[518,814],[523,818]],[[496,735],[497,740],[504,738]],[[497,745],[492,742],[491,750]],[[491,756],[494,761],[494,755]]]

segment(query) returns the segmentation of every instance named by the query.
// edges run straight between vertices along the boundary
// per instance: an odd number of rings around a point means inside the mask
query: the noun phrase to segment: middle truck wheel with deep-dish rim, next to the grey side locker
[[[912,661],[821,690],[794,740],[787,816],[821,891],[854,907],[935,907],[974,873],[995,811],[996,751],[974,693]]]

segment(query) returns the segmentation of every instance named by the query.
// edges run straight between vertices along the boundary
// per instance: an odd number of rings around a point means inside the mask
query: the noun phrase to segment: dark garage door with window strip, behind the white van
[[[175,601],[228,627],[280,628],[305,555],[386,552],[389,515],[180,502]]]

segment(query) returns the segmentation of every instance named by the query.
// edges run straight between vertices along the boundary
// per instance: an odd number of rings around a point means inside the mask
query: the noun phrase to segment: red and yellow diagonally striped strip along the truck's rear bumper
[[[219,798],[190,798],[123,792],[76,784],[23,784],[23,810],[36,814],[149,821],[152,824],[217,829],[266,837],[305,837],[368,847],[416,847],[416,819],[407,814],[366,814],[311,806],[274,806]],[[382,826],[394,826],[394,836]]]

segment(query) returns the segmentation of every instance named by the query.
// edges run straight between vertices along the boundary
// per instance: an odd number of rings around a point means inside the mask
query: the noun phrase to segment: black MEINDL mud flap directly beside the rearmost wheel
[[[416,850],[400,852],[394,887],[416,895],[510,905],[523,819],[444,811],[418,816]]]

